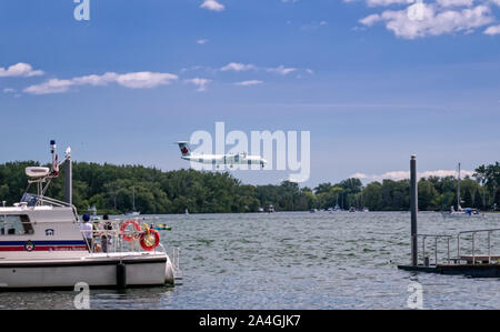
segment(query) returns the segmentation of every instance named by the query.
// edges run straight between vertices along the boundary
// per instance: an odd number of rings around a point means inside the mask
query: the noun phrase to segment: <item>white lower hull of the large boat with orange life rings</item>
[[[0,261],[0,290],[89,286],[173,285],[166,254],[94,255],[84,259]]]

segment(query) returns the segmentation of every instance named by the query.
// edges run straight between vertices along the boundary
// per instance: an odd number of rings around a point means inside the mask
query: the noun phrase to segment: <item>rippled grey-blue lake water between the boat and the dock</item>
[[[169,253],[181,250],[181,284],[91,290],[91,309],[406,309],[412,282],[422,285],[423,309],[500,309],[500,279],[397,269],[410,261],[409,213],[191,214],[162,215],[161,222],[172,227],[160,232]],[[486,228],[500,228],[500,214],[419,214],[420,233]],[[456,241],[451,248],[456,255]],[[446,252],[442,242],[440,255]],[[73,309],[76,294],[0,293],[0,309]]]

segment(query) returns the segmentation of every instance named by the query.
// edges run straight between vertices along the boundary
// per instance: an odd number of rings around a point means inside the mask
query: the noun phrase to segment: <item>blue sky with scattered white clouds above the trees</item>
[[[310,131],[307,185],[412,153],[422,172],[499,160],[500,1],[417,4],[90,0],[77,21],[72,0],[1,1],[0,161],[48,161],[53,138],[76,160],[187,168],[172,142],[216,121]]]

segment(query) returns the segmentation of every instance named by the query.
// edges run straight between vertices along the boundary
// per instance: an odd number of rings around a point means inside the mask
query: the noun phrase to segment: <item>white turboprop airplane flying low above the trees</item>
[[[263,168],[268,163],[266,159],[261,158],[260,155],[249,155],[247,154],[247,152],[238,154],[192,153],[188,142],[179,141],[177,143],[179,144],[179,149],[181,150],[182,153],[181,159],[199,163],[211,163],[217,165],[217,168],[219,168],[221,164],[227,164],[230,168],[232,168],[234,164],[249,164],[249,165],[260,164],[260,167]]]

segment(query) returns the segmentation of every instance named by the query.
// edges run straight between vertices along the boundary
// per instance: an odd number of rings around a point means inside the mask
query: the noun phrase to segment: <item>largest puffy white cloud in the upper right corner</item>
[[[407,10],[387,10],[381,14],[371,14],[359,22],[372,26],[383,21],[386,28],[397,37],[414,39],[427,36],[440,36],[453,32],[472,32],[474,29],[493,21],[488,6],[477,6],[462,10],[441,9],[436,4],[421,6],[421,20],[411,20]]]

